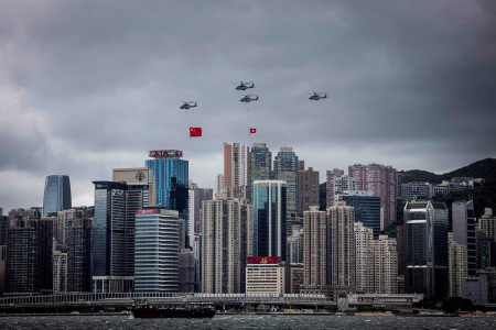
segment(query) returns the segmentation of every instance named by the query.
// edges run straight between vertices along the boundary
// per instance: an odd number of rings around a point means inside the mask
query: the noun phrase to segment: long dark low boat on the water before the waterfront
[[[212,304],[192,304],[186,306],[151,307],[147,300],[134,301],[131,309],[136,319],[151,318],[198,318],[212,319],[215,316],[215,307]]]

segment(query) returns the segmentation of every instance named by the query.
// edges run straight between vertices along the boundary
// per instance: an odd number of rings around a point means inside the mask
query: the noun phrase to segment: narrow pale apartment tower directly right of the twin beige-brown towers
[[[355,231],[355,287],[357,292],[374,293],[374,232],[362,222],[354,223]]]

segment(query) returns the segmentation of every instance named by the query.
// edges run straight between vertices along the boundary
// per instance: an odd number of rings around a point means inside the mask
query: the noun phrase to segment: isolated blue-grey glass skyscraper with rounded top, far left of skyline
[[[72,208],[71,182],[67,175],[48,175],[43,195],[43,216]]]

